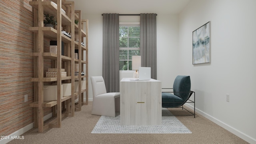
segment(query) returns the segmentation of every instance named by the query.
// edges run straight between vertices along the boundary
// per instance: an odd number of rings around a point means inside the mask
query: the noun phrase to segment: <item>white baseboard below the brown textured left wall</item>
[[[51,117],[52,117],[52,113],[47,114],[46,116],[44,116],[44,120],[47,120]],[[31,124],[28,124],[27,126],[24,126],[23,128],[10,134],[9,136],[6,136],[6,139],[0,139],[0,144],[6,144],[6,143],[10,142],[11,140],[18,139],[18,138],[25,138],[25,137],[22,137],[22,134],[24,134],[28,130],[32,129],[33,127],[34,127],[34,122],[32,122]]]

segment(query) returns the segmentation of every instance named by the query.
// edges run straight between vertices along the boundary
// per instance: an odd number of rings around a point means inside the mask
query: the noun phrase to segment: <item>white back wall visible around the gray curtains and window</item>
[[[88,99],[92,101],[91,76],[102,76],[102,15],[82,14],[88,19]],[[138,22],[139,16],[120,16],[121,22]],[[158,14],[157,20],[157,79],[162,87],[172,87],[178,74],[178,16]],[[133,73],[133,72],[132,72]],[[124,73],[121,76],[132,76]]]

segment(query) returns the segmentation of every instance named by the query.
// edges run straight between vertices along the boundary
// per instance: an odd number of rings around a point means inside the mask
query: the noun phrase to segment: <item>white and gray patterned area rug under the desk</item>
[[[101,116],[92,134],[191,134],[175,116],[162,116],[162,126],[120,126],[120,113],[115,118]],[[162,115],[171,115],[162,108]]]

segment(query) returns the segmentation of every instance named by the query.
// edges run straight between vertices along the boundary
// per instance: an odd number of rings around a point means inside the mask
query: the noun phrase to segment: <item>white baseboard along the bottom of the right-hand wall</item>
[[[191,110],[194,110],[194,106],[191,106],[190,104],[185,104],[188,108],[190,108]],[[221,126],[222,128],[225,128],[226,130],[228,130],[229,132],[231,132],[232,134],[238,136],[239,138],[242,138],[243,140],[245,140],[246,142],[249,142],[250,144],[256,144],[256,139],[252,138],[251,136],[248,136],[247,134],[244,134],[243,132],[240,132],[239,130],[237,130],[236,128],[233,128],[232,126],[229,126],[228,124],[210,116],[209,114],[206,114],[205,112],[198,110],[196,108],[196,112],[202,116],[204,116],[205,118],[209,119],[210,121],[218,124],[219,126]]]

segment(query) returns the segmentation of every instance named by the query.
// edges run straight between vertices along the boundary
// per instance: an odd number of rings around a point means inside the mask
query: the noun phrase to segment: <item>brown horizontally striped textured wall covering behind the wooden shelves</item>
[[[7,136],[33,122],[32,52],[34,35],[30,0],[0,0],[0,136]],[[45,42],[49,42],[45,40]],[[46,67],[50,65],[50,61]],[[28,94],[28,102],[24,95]],[[45,110],[49,113],[49,108]]]

